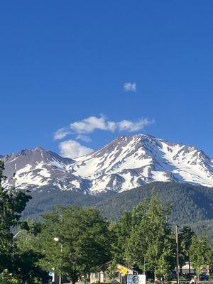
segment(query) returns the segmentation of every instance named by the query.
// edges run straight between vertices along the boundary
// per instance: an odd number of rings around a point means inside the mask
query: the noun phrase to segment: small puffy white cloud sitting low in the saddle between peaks
[[[62,156],[67,158],[77,158],[94,151],[92,148],[82,146],[75,140],[63,141],[59,144],[59,148]]]

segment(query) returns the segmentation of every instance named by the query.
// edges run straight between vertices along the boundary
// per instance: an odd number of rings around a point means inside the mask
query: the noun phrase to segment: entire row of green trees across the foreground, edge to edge
[[[118,222],[109,222],[97,209],[57,207],[41,222],[21,221],[21,212],[31,199],[15,188],[4,190],[4,163],[0,162],[0,283],[48,283],[48,272],[66,275],[75,284],[112,261],[168,280],[176,266],[175,231],[170,224],[172,207],[151,198],[125,212]],[[14,239],[16,232],[20,232]],[[179,235],[180,266],[190,261],[197,273],[212,263],[213,249],[207,238],[199,239],[190,226]]]

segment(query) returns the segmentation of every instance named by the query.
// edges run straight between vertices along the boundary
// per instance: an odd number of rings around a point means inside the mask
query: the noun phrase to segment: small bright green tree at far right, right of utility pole
[[[210,265],[212,261],[208,239],[206,237],[198,239],[197,236],[193,236],[190,251],[192,266],[195,267],[197,274],[200,274],[202,266]]]

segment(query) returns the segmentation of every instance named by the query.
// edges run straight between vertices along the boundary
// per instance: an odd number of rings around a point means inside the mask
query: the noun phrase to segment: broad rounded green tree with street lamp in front
[[[75,283],[109,261],[111,236],[96,209],[58,207],[43,219],[43,229],[35,240],[44,256],[40,261],[43,268],[67,275]]]

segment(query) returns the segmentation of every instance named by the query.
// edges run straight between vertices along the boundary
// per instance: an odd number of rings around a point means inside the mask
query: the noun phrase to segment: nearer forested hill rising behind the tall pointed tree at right
[[[151,197],[153,192],[162,202],[173,204],[172,223],[187,224],[213,219],[213,188],[180,182],[152,182],[117,193],[95,204],[95,207],[108,219],[118,220],[124,211],[131,211],[145,198]]]

